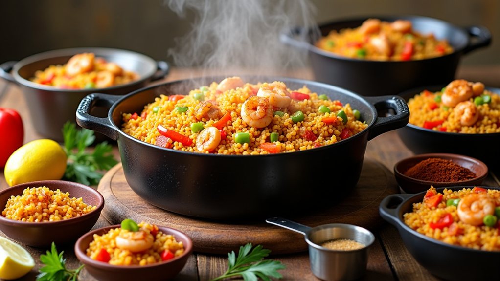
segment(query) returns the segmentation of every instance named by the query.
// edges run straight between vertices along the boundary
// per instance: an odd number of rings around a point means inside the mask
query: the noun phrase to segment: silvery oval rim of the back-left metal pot
[[[106,87],[106,88],[92,88],[92,89],[61,89],[61,88],[56,88],[53,86],[47,86],[43,84],[38,84],[35,82],[31,82],[28,79],[25,79],[24,77],[21,77],[18,73],[19,69],[22,67],[33,63],[37,62],[42,59],[50,59],[50,58],[57,58],[61,56],[71,56],[74,54],[82,53],[82,52],[93,52],[95,53],[96,56],[101,55],[101,53],[104,52],[110,52],[110,53],[124,53],[125,55],[134,55],[138,56],[141,61],[145,62],[148,66],[150,66],[150,70],[146,72],[144,75],[140,75],[139,79],[128,82],[126,84],[121,84],[121,85],[116,85],[112,87]],[[39,69],[43,70],[43,69]],[[18,62],[16,62],[13,67],[12,67],[12,76],[14,77],[15,81],[17,81],[19,84],[26,86],[28,88],[34,88],[38,90],[44,90],[44,91],[52,91],[52,92],[71,92],[71,93],[84,93],[84,92],[95,92],[95,91],[108,91],[108,90],[114,90],[114,89],[120,89],[120,88],[125,88],[129,85],[132,84],[137,84],[137,83],[143,83],[147,79],[149,79],[156,71],[156,62],[154,59],[152,59],[149,56],[146,56],[145,54],[141,54],[138,52],[134,52],[131,50],[126,50],[126,49],[117,49],[117,48],[106,48],[106,47],[77,47],[77,48],[64,48],[64,49],[56,49],[56,50],[49,50],[41,53],[36,53],[30,56],[27,56]]]

